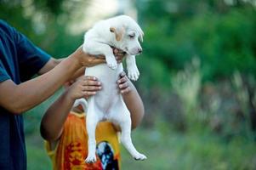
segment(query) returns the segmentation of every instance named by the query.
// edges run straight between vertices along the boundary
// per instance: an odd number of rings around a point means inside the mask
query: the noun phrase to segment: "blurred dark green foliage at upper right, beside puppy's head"
[[[182,69],[197,56],[202,61],[203,80],[230,77],[235,70],[255,75],[256,11],[252,4],[224,3],[225,10],[219,13],[219,3],[211,1],[142,2],[138,8],[145,56],[161,59],[169,71]]]

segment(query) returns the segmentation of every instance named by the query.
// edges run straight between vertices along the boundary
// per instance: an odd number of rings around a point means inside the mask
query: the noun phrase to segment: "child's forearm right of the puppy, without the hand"
[[[134,87],[134,85],[130,82],[131,91],[128,94],[122,94],[122,98],[125,104],[128,107],[128,110],[131,114],[132,119],[132,129],[137,127],[139,123],[142,121],[145,110],[142,100],[139,97],[139,94]]]

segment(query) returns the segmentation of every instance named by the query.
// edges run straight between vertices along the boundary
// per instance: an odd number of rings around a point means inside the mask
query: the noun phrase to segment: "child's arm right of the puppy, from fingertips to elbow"
[[[134,84],[126,77],[124,72],[121,73],[120,77],[117,84],[120,88],[122,99],[130,111],[132,129],[134,129],[139,126],[145,114],[144,105]]]

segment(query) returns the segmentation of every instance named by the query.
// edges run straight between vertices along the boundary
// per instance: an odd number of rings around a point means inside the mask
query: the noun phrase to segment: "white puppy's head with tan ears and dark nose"
[[[117,48],[128,54],[136,55],[142,52],[139,40],[143,42],[144,33],[139,25],[126,15],[117,16],[115,26],[110,27],[117,41]]]

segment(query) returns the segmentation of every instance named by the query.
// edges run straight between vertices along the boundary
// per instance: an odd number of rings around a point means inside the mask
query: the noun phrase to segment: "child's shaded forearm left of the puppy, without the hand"
[[[73,104],[74,99],[68,98],[65,93],[48,108],[48,111],[43,116],[40,127],[43,139],[54,141],[60,138],[62,127]]]

